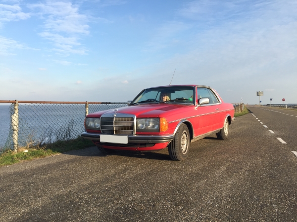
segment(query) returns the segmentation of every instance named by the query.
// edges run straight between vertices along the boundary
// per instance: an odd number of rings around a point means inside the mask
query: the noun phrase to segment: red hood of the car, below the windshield
[[[159,117],[162,113],[166,112],[166,115],[170,115],[170,112],[178,111],[189,107],[191,105],[182,105],[182,104],[142,104],[142,105],[133,105],[127,107],[121,107],[107,111],[99,111],[92,114],[89,114],[88,117],[100,117],[105,113],[127,113],[133,114],[137,117]]]

